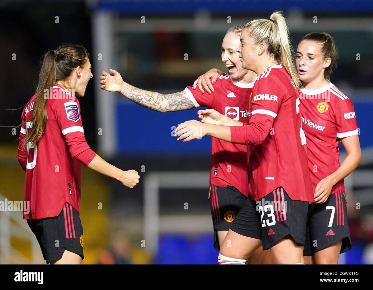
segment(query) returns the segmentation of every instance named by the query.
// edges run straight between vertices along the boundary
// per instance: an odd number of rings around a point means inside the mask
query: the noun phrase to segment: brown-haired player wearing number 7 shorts
[[[315,198],[308,208],[304,255],[313,255],[314,264],[338,264],[339,253],[351,249],[344,178],[361,160],[354,105],[330,82],[336,60],[335,43],[325,32],[307,34],[298,45],[299,98]],[[347,153],[342,164],[336,138]]]

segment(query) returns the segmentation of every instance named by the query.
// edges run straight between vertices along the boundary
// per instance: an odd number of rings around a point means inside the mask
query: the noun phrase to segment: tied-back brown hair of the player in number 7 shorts
[[[333,38],[326,32],[311,32],[305,35],[302,40],[311,40],[321,44],[323,58],[326,59],[330,57],[330,59],[332,59],[330,65],[324,70],[324,78],[330,81],[330,75],[332,75],[333,69],[337,67],[338,60],[338,53]]]

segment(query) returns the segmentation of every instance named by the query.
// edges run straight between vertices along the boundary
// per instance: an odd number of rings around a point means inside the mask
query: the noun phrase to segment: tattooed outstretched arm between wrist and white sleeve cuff
[[[194,104],[184,91],[173,94],[160,94],[158,92],[145,91],[126,84],[120,93],[129,100],[159,112],[182,111],[194,108]]]

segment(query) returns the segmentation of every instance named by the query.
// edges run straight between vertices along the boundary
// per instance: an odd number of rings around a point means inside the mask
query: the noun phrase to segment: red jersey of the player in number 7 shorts
[[[301,88],[299,98],[307,138],[308,168],[315,189],[320,180],[341,165],[336,138],[358,135],[355,109],[352,101],[332,83],[315,90]],[[343,179],[330,193],[339,190],[345,193]]]

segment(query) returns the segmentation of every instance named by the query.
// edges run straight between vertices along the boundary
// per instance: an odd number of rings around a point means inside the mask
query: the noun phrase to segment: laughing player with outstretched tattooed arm
[[[194,90],[160,94],[135,88],[115,70],[103,72],[101,88],[120,92],[126,98],[159,112],[188,110],[194,107],[214,108],[230,118],[244,122],[247,96],[251,94],[256,74],[243,69],[236,52],[242,26],[231,28],[222,43],[222,62],[229,73],[223,73],[215,83],[214,95],[207,90]],[[209,201],[214,227],[214,247],[219,250],[232,221],[244,205],[249,192],[247,178],[247,146],[231,144],[212,138]],[[272,257],[261,249],[248,260],[249,264],[273,264]]]

